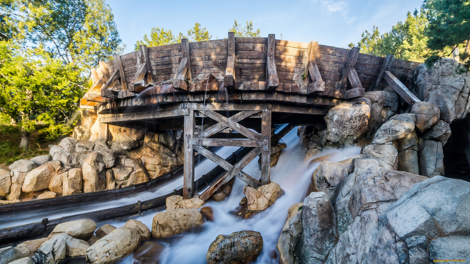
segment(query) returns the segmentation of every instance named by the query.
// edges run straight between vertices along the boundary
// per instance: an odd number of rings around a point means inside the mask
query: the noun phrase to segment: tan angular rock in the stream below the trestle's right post
[[[243,194],[247,198],[248,210],[262,211],[271,207],[281,197],[283,191],[281,186],[275,182],[260,186],[255,189],[249,185],[243,187]]]

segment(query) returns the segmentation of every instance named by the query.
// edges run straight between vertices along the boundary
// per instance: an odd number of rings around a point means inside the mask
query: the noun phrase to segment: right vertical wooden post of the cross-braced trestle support
[[[261,116],[261,140],[264,146],[261,147],[261,185],[271,183],[271,111],[263,110]]]

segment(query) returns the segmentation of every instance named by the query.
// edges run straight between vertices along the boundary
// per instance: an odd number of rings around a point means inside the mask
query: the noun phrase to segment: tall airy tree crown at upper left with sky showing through
[[[121,52],[114,17],[103,0],[13,0],[5,21],[14,39],[32,43],[51,57],[91,69]]]

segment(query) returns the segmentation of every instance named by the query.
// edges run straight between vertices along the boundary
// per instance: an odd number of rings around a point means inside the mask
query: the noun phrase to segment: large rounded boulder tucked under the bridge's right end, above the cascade
[[[322,133],[325,140],[339,145],[356,145],[356,141],[366,131],[370,115],[370,100],[358,98],[344,101],[330,108],[325,116],[327,129]]]

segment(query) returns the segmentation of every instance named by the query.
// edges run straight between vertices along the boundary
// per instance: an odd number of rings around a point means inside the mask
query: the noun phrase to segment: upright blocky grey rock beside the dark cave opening
[[[441,142],[423,140],[423,149],[418,152],[419,174],[429,178],[440,175],[443,157]]]

